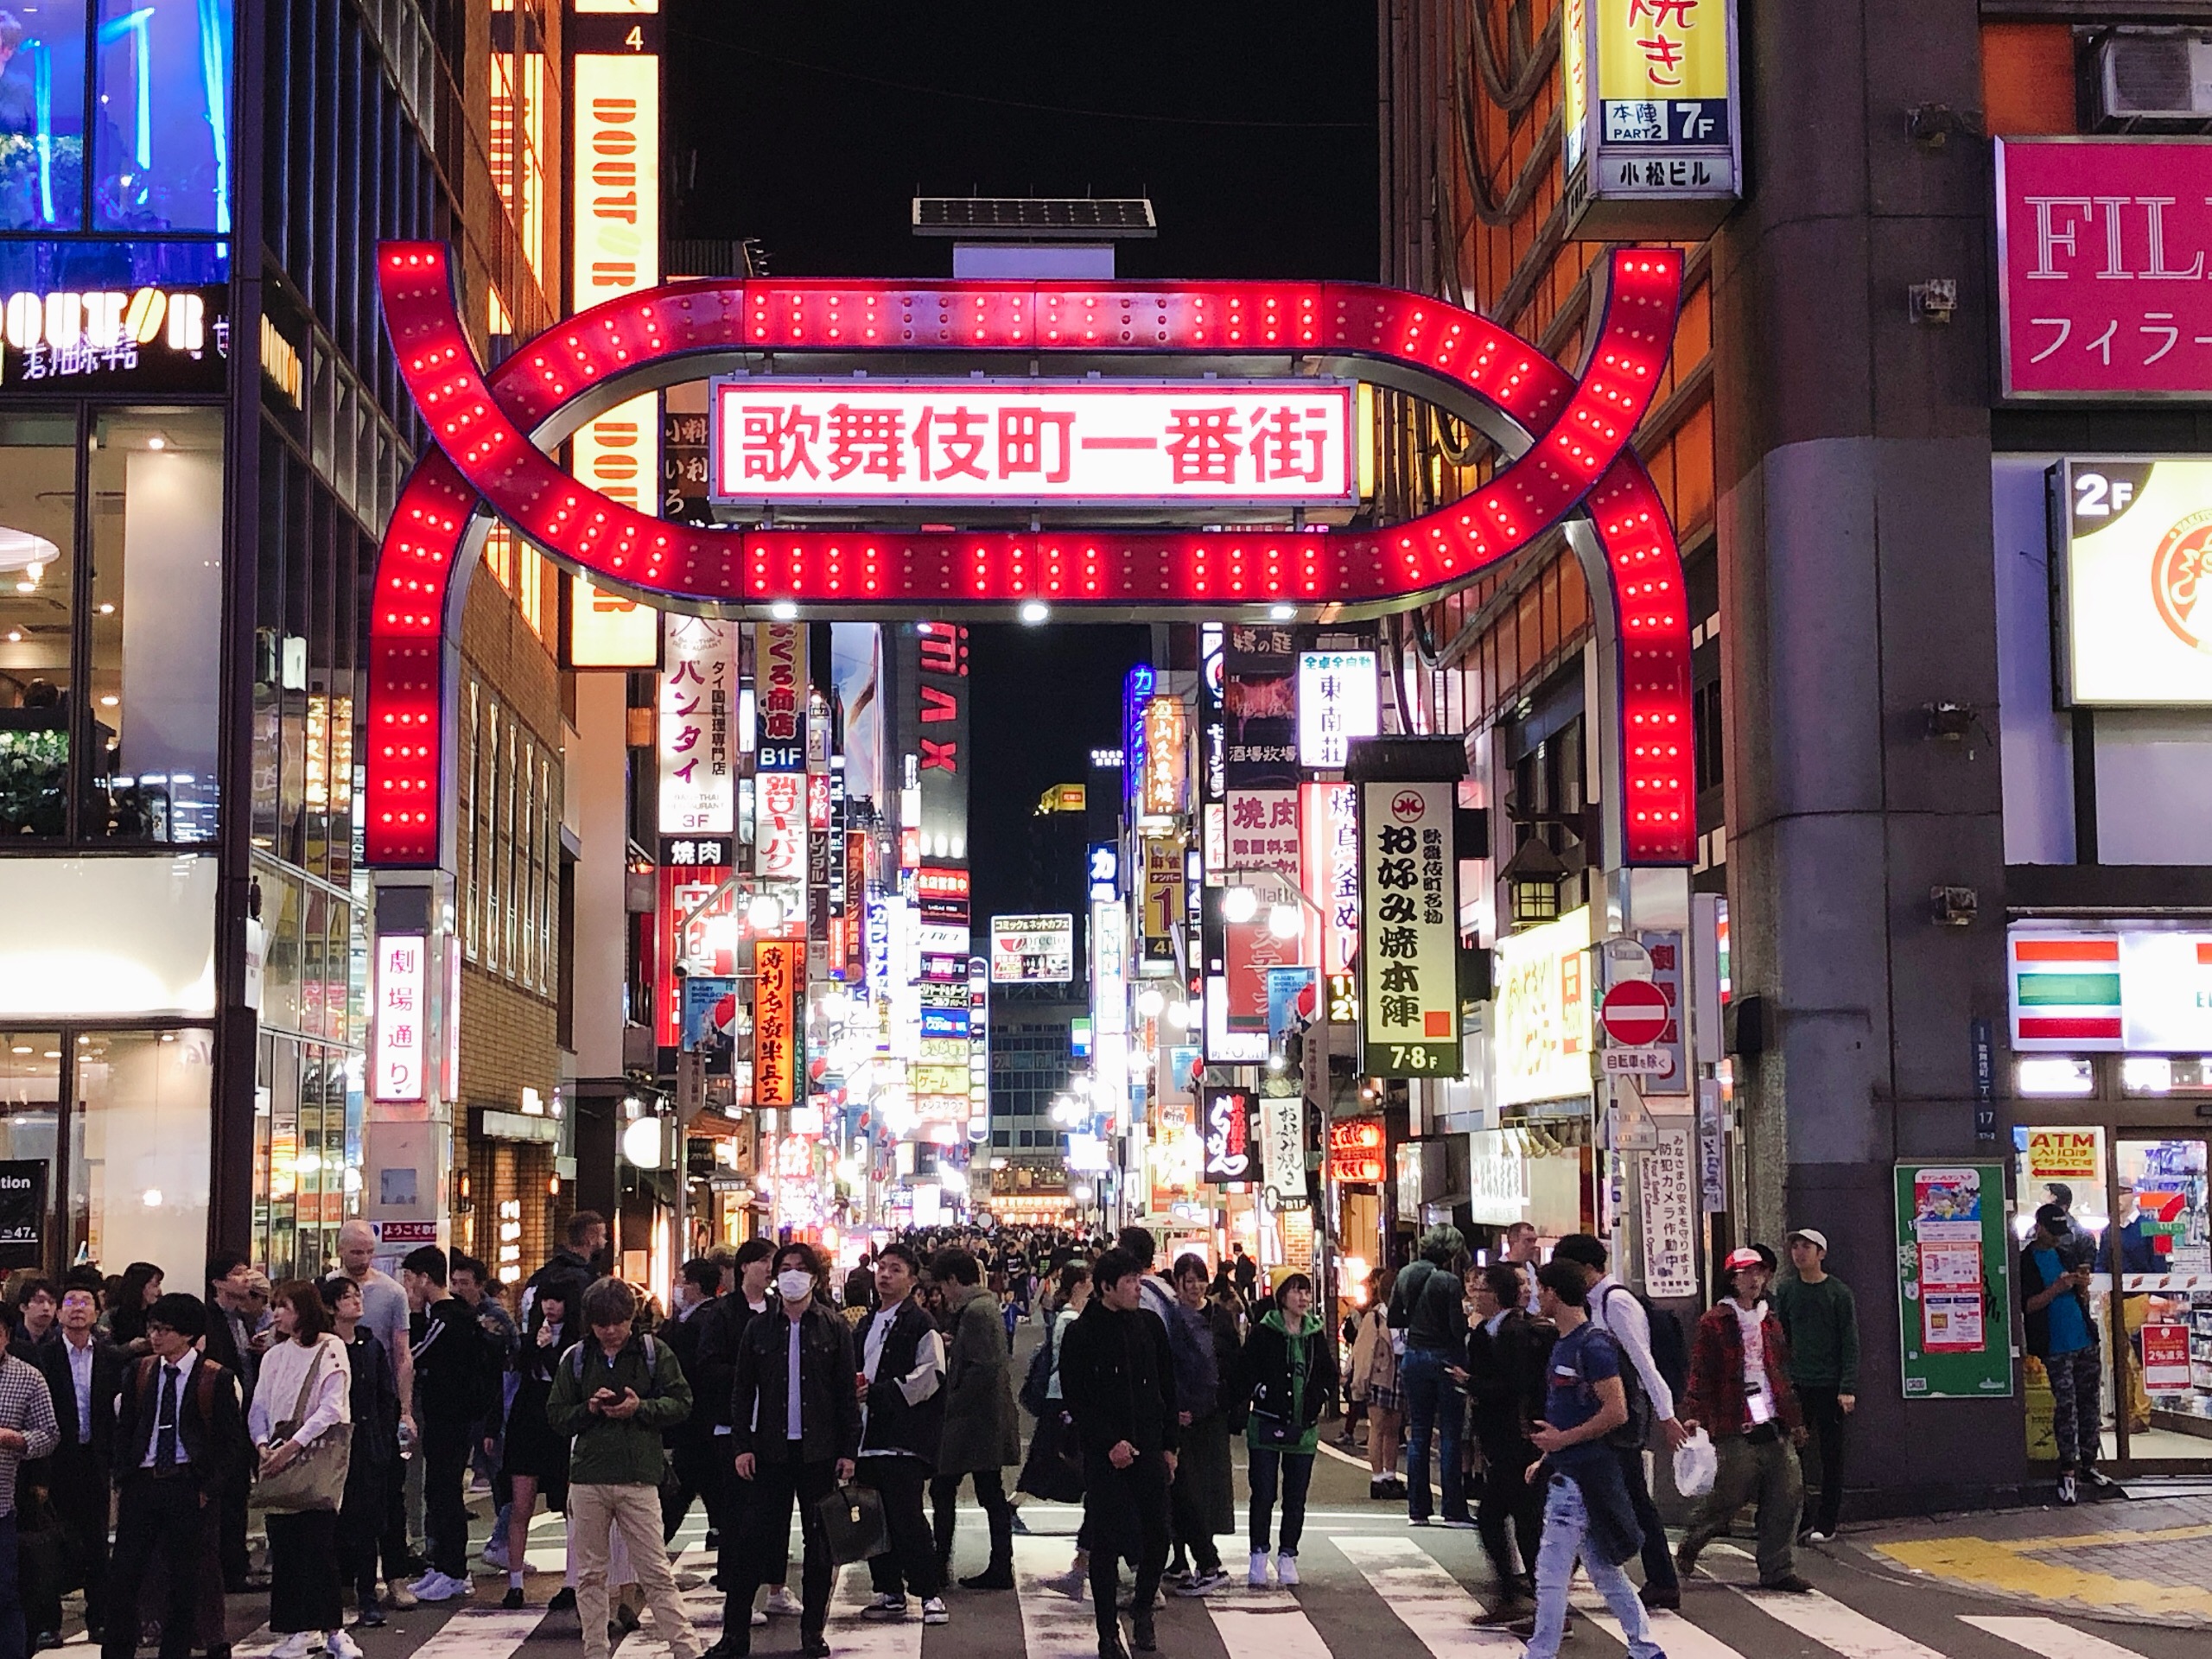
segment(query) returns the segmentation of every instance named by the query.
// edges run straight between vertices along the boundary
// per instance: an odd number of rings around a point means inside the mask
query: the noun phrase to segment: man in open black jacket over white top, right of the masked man
[[[945,1433],[945,1338],[914,1301],[922,1276],[911,1245],[876,1252],[876,1312],[860,1336],[860,1484],[883,1495],[891,1548],[867,1564],[876,1599],[869,1619],[905,1619],[907,1593],[922,1601],[922,1624],[945,1624],[945,1575],[922,1513],[922,1489]],[[845,1294],[852,1307],[852,1292]]]

